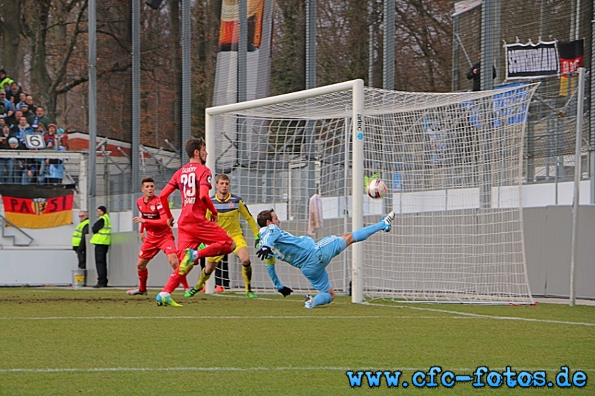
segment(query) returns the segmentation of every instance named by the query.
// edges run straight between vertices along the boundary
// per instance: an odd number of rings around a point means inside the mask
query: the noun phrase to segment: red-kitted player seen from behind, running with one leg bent
[[[227,255],[235,249],[235,242],[223,228],[217,225],[218,212],[211,201],[211,170],[204,166],[207,162],[207,146],[202,138],[186,141],[186,154],[190,162],[176,171],[172,180],[161,190],[161,203],[168,219],[173,219],[169,211],[167,197],[174,190],[180,190],[182,211],[178,219],[178,259],[180,266],[174,270],[169,281],[157,296],[158,305],[181,306],[172,299],[182,277],[192,269],[202,257]],[[207,220],[207,209],[211,220]],[[207,246],[202,248],[203,245]],[[195,250],[199,249],[201,250]],[[205,267],[207,269],[207,267]],[[208,279],[215,268],[202,270],[200,276]]]

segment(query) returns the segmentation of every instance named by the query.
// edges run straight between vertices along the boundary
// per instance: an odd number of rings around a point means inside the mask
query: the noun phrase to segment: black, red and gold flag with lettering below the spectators
[[[72,223],[73,184],[0,184],[7,220],[22,228],[50,228]]]

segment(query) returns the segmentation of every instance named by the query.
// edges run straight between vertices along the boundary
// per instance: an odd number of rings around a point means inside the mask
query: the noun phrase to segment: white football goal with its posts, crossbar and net
[[[391,232],[353,243],[327,267],[353,302],[527,304],[521,153],[535,87],[435,94],[353,80],[208,108],[207,165],[230,176],[254,217],[274,208],[282,229],[315,241],[395,211]],[[382,199],[365,194],[376,177],[388,188]],[[244,235],[253,246],[245,222]],[[253,290],[274,292],[254,253]],[[241,266],[229,262],[229,285],[241,290]],[[298,269],[278,262],[276,271],[315,292]]]

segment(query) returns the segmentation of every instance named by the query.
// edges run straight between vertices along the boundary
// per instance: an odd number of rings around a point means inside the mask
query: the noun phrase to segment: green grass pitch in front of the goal
[[[158,307],[155,290],[0,288],[0,395],[582,395],[595,388],[595,306],[351,304],[300,296],[197,295]],[[585,388],[349,388],[347,370],[440,366],[472,375],[562,365]],[[485,379],[485,377],[484,377]]]

